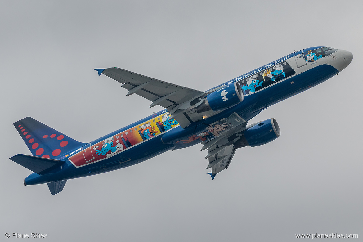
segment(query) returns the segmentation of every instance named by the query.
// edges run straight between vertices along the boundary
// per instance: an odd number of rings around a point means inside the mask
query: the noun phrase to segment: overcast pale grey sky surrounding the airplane
[[[56,242],[363,238],[362,11],[360,0],[1,0],[0,238],[7,232],[44,233]],[[354,59],[334,78],[251,120],[275,118],[280,138],[238,149],[213,181],[200,144],[69,180],[55,196],[46,184],[24,186],[32,172],[8,160],[30,155],[12,126],[26,116],[89,142],[163,109],[126,97],[94,68],[116,66],[207,90],[319,45],[349,50]]]

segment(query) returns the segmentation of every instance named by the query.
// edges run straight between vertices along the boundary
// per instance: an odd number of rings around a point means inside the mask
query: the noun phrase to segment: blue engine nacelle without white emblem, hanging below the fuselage
[[[255,147],[267,144],[280,136],[280,127],[276,119],[267,119],[246,130],[238,141],[234,143],[234,148],[241,148],[249,145]]]

